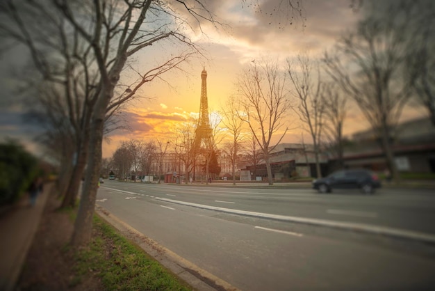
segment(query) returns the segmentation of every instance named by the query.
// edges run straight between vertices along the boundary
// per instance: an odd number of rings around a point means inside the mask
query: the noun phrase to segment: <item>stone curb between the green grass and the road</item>
[[[199,268],[192,262],[181,258],[170,249],[166,249],[153,239],[146,237],[135,228],[115,217],[101,205],[96,205],[95,212],[101,219],[116,228],[121,235],[138,244],[146,253],[151,255],[161,265],[186,281],[192,288],[199,291],[239,291],[226,281],[217,278],[206,270]]]

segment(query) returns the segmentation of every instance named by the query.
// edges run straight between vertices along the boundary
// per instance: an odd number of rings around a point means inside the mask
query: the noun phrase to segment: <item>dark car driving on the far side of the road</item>
[[[313,189],[320,193],[331,192],[332,189],[361,189],[365,194],[375,193],[381,182],[375,173],[367,170],[343,170],[313,180]]]

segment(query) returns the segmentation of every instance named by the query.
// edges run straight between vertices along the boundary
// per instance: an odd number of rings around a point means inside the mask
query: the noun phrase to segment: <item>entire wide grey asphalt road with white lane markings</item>
[[[241,290],[435,288],[431,191],[366,196],[106,180],[97,203]]]

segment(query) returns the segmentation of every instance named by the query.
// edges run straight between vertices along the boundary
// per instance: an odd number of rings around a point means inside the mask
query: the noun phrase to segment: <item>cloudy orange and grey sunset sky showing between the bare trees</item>
[[[140,92],[142,97],[127,104],[123,111],[130,130],[116,130],[108,134],[109,139],[106,139],[103,146],[103,157],[111,157],[120,143],[129,139],[167,139],[177,123],[186,121],[189,116],[197,116],[203,69],[208,74],[209,111],[219,111],[227,97],[236,91],[238,76],[250,62],[268,58],[284,65],[286,58],[295,58],[298,54],[307,54],[313,60],[320,58],[342,33],[356,24],[359,17],[350,8],[350,0],[304,0],[301,1],[302,17],[295,14],[294,19],[291,19],[284,10],[285,5],[279,6],[279,3],[285,2],[263,0],[258,1],[260,6],[254,6],[248,4],[256,1],[206,1],[216,19],[225,25],[216,28],[204,22],[201,24],[204,33],[199,33],[196,27],[194,31],[187,32],[204,49],[205,57],[193,58],[181,66],[182,70],[164,74],[164,81],[152,81],[143,87]],[[195,26],[195,22],[192,23]],[[177,45],[157,46],[136,55],[131,65],[140,72],[177,52]],[[23,107],[19,102],[10,107],[10,100],[14,100],[15,86],[10,70],[25,63],[25,58],[21,57],[24,54],[26,53],[0,55],[3,88],[0,93],[0,139],[6,136],[22,139],[28,148],[35,150],[32,139],[38,134],[38,129],[23,126],[23,121],[19,118]],[[130,78],[134,79],[134,76],[124,76],[122,81],[128,83]],[[404,116],[415,114],[418,112],[407,111]],[[295,114],[290,114],[288,119],[291,124],[289,127],[293,129],[281,142],[301,142],[301,132],[304,132],[302,125]],[[367,127],[368,123],[361,113],[357,110],[349,111],[345,134]],[[307,132],[304,136],[305,141],[309,140]]]

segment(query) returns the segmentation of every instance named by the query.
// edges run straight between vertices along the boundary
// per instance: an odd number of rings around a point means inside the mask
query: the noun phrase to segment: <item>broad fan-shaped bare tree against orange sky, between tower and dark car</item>
[[[286,77],[277,62],[253,63],[238,79],[238,97],[243,108],[240,118],[247,123],[260,146],[268,171],[269,184],[273,184],[270,152],[281,142],[288,127],[272,145],[272,136],[284,126],[285,113],[290,109],[286,92]]]

